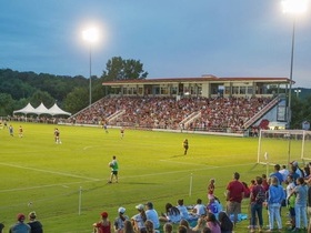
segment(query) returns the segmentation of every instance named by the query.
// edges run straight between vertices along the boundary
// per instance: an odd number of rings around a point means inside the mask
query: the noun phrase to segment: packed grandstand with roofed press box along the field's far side
[[[255,134],[285,125],[288,78],[141,79],[103,82],[111,94],[69,118],[76,124]],[[271,126],[271,125],[270,125]]]

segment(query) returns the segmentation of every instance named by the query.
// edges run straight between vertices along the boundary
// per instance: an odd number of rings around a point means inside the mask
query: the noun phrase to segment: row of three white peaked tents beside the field
[[[13,113],[23,113],[23,114],[49,114],[49,115],[71,115],[70,112],[66,112],[62,109],[58,107],[57,103],[52,105],[50,109],[47,109],[47,107],[43,103],[40,103],[38,108],[33,108],[30,103],[28,103],[23,109],[13,111]]]

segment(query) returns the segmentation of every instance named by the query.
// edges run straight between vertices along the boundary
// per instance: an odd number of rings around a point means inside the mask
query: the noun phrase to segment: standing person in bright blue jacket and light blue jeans
[[[268,210],[269,210],[269,231],[273,231],[274,220],[277,221],[278,229],[282,229],[282,220],[280,214],[281,203],[285,194],[282,185],[279,183],[277,176],[271,178],[271,185],[268,190]]]

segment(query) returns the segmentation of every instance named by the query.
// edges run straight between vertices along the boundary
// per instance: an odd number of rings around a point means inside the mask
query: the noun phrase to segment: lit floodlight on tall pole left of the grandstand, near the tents
[[[89,28],[82,31],[83,40],[89,43],[90,52],[90,90],[89,90],[89,107],[92,104],[92,44],[98,41],[99,32],[97,28]]]

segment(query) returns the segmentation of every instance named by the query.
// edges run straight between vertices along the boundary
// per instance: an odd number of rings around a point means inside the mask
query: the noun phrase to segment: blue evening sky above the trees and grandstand
[[[290,78],[293,28],[293,88],[311,88],[311,4],[293,18],[281,0],[1,0],[0,69],[88,78],[91,51],[98,77],[121,57],[148,79]]]

